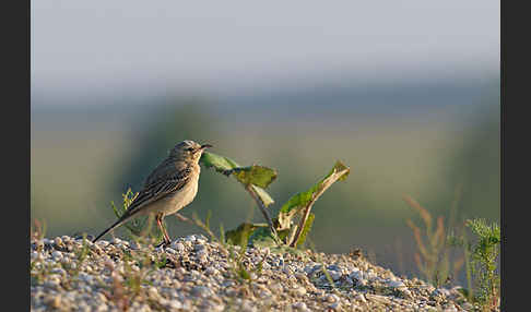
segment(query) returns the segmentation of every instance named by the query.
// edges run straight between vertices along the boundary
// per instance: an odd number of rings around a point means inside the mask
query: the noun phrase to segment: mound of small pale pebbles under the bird
[[[85,242],[83,244],[83,242]],[[473,311],[458,288],[397,277],[359,255],[120,239],[31,242],[32,311]],[[331,283],[332,281],[332,283]]]

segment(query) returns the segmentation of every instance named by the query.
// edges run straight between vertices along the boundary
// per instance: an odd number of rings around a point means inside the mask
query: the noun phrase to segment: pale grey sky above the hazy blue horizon
[[[32,1],[35,94],[499,70],[499,1]]]

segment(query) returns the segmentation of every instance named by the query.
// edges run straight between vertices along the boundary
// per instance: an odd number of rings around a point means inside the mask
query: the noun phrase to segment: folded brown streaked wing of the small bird
[[[191,173],[191,168],[186,167],[181,170],[166,170],[163,175],[157,175],[156,179],[148,179],[144,188],[122,217],[126,217],[126,215],[131,216],[143,206],[179,191],[189,182]],[[150,177],[152,176],[153,173]]]

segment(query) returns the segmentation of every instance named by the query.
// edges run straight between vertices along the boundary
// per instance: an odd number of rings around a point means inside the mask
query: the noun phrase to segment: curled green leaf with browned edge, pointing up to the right
[[[306,192],[300,192],[293,195],[279,212],[279,230],[290,228],[292,219],[297,213],[311,208],[311,205],[328,188],[330,188],[338,180],[342,181],[346,179],[351,169],[349,167],[338,160],[332,167],[332,170],[330,170],[330,172],[317,184],[311,187]]]

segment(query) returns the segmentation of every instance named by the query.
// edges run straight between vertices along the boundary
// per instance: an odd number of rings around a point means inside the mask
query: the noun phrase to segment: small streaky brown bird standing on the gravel
[[[107,232],[123,225],[137,216],[154,215],[164,241],[168,245],[172,240],[163,225],[165,216],[177,213],[190,204],[198,192],[199,159],[211,144],[199,144],[185,140],[175,145],[169,155],[145,179],[139,194],[129,205],[123,215],[109,228],[98,235],[93,242]]]

